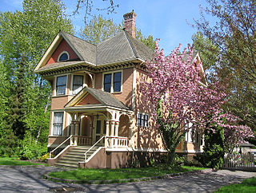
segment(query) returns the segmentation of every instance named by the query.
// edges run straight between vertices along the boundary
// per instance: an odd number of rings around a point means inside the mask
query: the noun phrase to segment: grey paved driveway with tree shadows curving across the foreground
[[[197,175],[181,175],[170,179],[158,179],[139,183],[82,185],[54,183],[42,179],[48,171],[58,167],[0,167],[1,192],[50,192],[54,189],[66,191],[111,191],[111,192],[211,192],[228,183],[239,183],[242,179],[256,176],[245,171],[208,171]]]

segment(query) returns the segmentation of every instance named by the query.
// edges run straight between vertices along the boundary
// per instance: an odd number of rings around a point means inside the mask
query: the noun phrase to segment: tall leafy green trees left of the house
[[[0,13],[0,56],[10,82],[8,122],[20,140],[46,142],[50,85],[33,73],[59,30],[73,33],[62,1],[24,0],[23,10]]]

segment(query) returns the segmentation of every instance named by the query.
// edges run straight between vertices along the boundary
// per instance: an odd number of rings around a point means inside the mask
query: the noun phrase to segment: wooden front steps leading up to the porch
[[[72,148],[69,152],[66,153],[55,166],[58,167],[70,167],[70,168],[78,168],[78,162],[85,160],[85,152],[90,149],[91,146],[77,146]],[[87,152],[87,159],[99,148],[99,146],[94,146],[94,148],[90,149],[90,152]]]

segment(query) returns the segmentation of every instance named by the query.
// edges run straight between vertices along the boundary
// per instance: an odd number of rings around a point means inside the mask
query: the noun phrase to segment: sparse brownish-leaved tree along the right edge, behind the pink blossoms
[[[256,62],[255,62],[255,1],[206,0],[209,7],[202,10],[202,18],[195,26],[219,50],[212,74],[228,82],[230,102],[226,109],[244,120],[256,131]],[[218,22],[214,26],[206,20],[210,14]],[[208,49],[202,46],[202,49]],[[210,52],[210,49],[206,51]],[[210,60],[210,56],[206,56]],[[207,61],[206,61],[207,62]]]

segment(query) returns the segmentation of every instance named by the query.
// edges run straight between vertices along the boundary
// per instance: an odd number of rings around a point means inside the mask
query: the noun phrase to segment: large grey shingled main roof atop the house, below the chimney
[[[106,41],[102,41],[98,45],[90,44],[81,38],[74,37],[69,33],[60,31],[54,38],[50,47],[47,49],[41,61],[39,61],[37,67],[34,69],[35,73],[55,68],[60,69],[65,67],[67,64],[76,64],[75,61],[61,61],[49,64],[49,66],[46,67],[46,62],[50,59],[55,49],[58,48],[62,39],[65,39],[78,55],[80,61],[77,61],[77,63],[81,63],[81,61],[83,61],[84,64],[93,66],[109,65],[122,61],[146,61],[150,60],[154,54],[150,48],[144,45],[141,41],[132,37],[130,33],[127,33],[125,30],[122,30],[118,35],[110,37]]]

